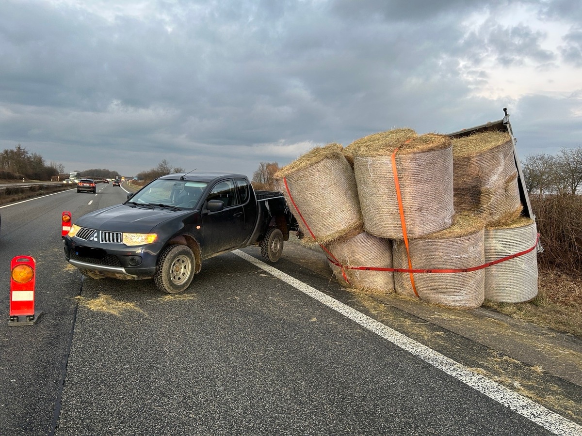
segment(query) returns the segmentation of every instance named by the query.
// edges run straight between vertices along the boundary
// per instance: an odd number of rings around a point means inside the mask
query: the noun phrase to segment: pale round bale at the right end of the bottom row
[[[537,242],[535,221],[520,217],[501,227],[485,229],[485,262],[530,249]],[[485,299],[522,303],[538,295],[537,250],[485,269]]]

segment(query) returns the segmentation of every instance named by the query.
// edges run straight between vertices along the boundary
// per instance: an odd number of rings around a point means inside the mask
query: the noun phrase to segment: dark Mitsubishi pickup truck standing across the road
[[[81,216],[65,256],[90,278],[154,278],[169,294],[189,287],[202,260],[259,245],[276,262],[297,230],[280,192],[255,191],[246,176],[178,173],[159,177],[120,205]]]

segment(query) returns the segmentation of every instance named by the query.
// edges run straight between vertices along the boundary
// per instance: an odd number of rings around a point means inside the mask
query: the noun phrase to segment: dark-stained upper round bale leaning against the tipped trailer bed
[[[507,132],[487,131],[453,139],[455,211],[488,225],[521,213],[513,142]]]

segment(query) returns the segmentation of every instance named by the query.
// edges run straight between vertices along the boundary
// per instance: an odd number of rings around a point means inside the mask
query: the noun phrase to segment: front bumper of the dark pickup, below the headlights
[[[152,278],[162,244],[129,247],[123,244],[101,244],[65,237],[65,258],[79,269],[105,277]]]

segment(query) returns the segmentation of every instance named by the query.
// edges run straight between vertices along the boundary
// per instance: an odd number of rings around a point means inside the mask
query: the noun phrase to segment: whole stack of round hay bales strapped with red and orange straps
[[[508,133],[450,140],[393,129],[346,148],[315,148],[275,178],[303,233],[354,288],[463,309],[537,295],[535,250],[477,268],[535,244],[535,223],[516,221],[522,206]],[[425,271],[385,271],[410,267]]]

